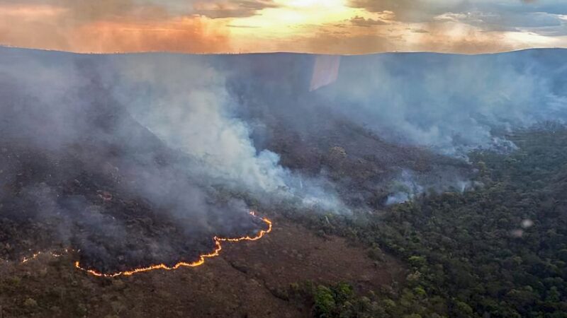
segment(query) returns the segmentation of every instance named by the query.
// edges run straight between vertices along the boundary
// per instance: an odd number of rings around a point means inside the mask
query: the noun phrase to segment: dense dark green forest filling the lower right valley
[[[567,129],[518,131],[508,154],[471,153],[476,187],[387,211],[295,216],[408,261],[400,287],[357,295],[305,284],[315,317],[567,317]],[[297,289],[297,288],[296,288]]]

